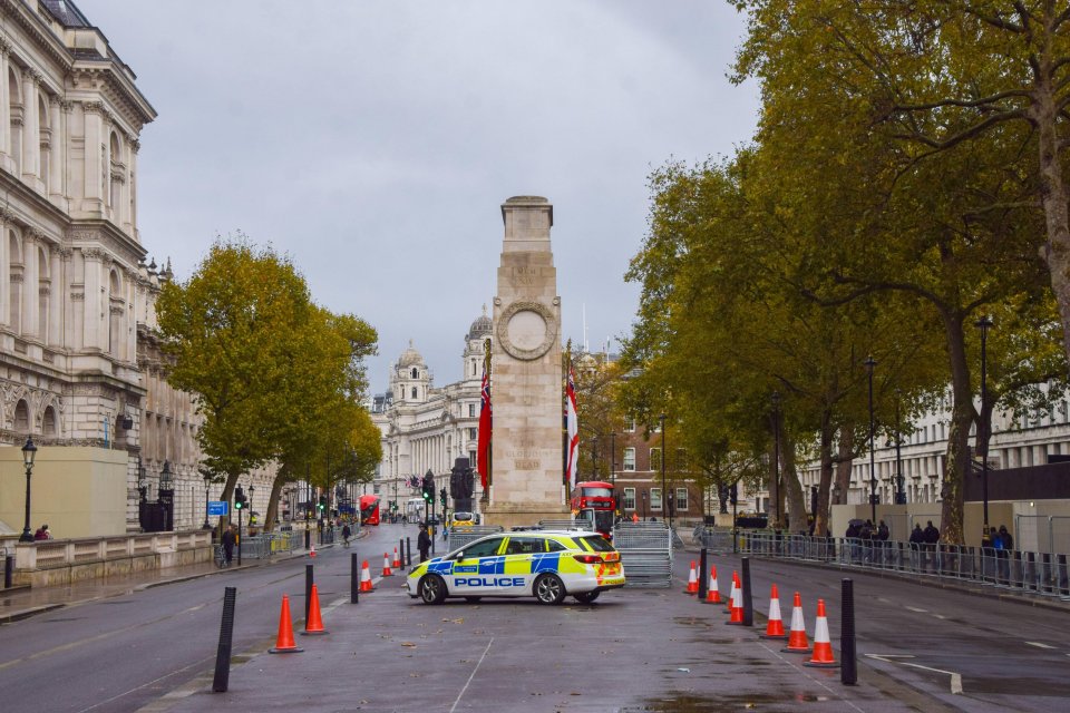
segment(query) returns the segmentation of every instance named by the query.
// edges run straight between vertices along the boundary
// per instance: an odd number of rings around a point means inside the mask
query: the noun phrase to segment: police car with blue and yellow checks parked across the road
[[[446,597],[531,597],[584,604],[624,586],[621,554],[597,533],[537,530],[498,533],[416,567],[406,589],[425,604]]]

